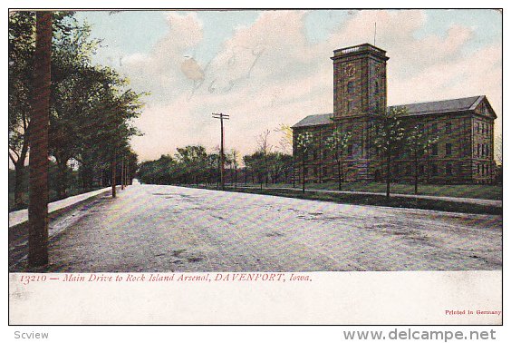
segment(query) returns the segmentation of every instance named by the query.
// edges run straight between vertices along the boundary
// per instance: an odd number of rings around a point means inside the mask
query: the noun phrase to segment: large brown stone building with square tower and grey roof
[[[371,44],[342,48],[333,52],[333,113],[309,115],[293,126],[294,159],[296,138],[310,132],[312,142],[304,167],[295,162],[295,178],[302,170],[307,181],[337,180],[333,152],[325,142],[333,130],[351,132],[342,154],[343,181],[381,181],[386,164],[374,144],[376,113],[387,107],[387,61],[384,50]],[[429,103],[410,103],[405,126],[418,125],[426,137],[434,137],[419,163],[403,152],[392,163],[391,179],[429,183],[490,183],[495,176],[494,120],[497,118],[485,95]]]

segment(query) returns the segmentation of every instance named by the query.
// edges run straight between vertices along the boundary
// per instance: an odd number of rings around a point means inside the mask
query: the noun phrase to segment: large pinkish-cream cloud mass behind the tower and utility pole
[[[280,123],[333,111],[333,50],[372,43],[387,50],[389,104],[487,94],[501,113],[501,49],[468,46],[474,28],[451,25],[441,34],[423,35],[422,11],[358,11],[324,41],[311,43],[305,11],[263,11],[252,25],[239,26],[220,51],[199,62],[193,50],[203,41],[195,13],[168,16],[169,34],[150,54],[123,60],[133,87],[150,91],[149,108],[137,124],[144,137],[133,145],[142,159],[173,153],[177,146],[219,141],[213,112],[228,113],[227,148],[256,149],[256,137]],[[497,82],[498,81],[498,82]],[[280,137],[272,133],[276,146]]]

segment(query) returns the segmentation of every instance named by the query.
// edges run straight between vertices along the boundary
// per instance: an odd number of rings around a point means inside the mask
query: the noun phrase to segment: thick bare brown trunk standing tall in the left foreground
[[[34,93],[30,134],[28,263],[48,264],[48,126],[52,65],[52,12],[36,12]]]

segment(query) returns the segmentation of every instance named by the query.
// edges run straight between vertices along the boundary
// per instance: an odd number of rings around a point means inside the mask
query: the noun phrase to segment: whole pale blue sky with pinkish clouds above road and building
[[[177,147],[219,144],[255,152],[281,124],[333,112],[333,50],[374,43],[387,51],[388,104],[485,94],[502,128],[502,15],[495,10],[79,12],[101,38],[94,62],[149,92],[131,145],[140,161]]]

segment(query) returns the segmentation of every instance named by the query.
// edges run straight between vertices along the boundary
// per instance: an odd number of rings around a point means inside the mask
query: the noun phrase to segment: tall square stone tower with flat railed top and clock
[[[371,44],[333,52],[333,121],[352,132],[346,180],[374,180],[372,122],[387,108],[386,52]]]

